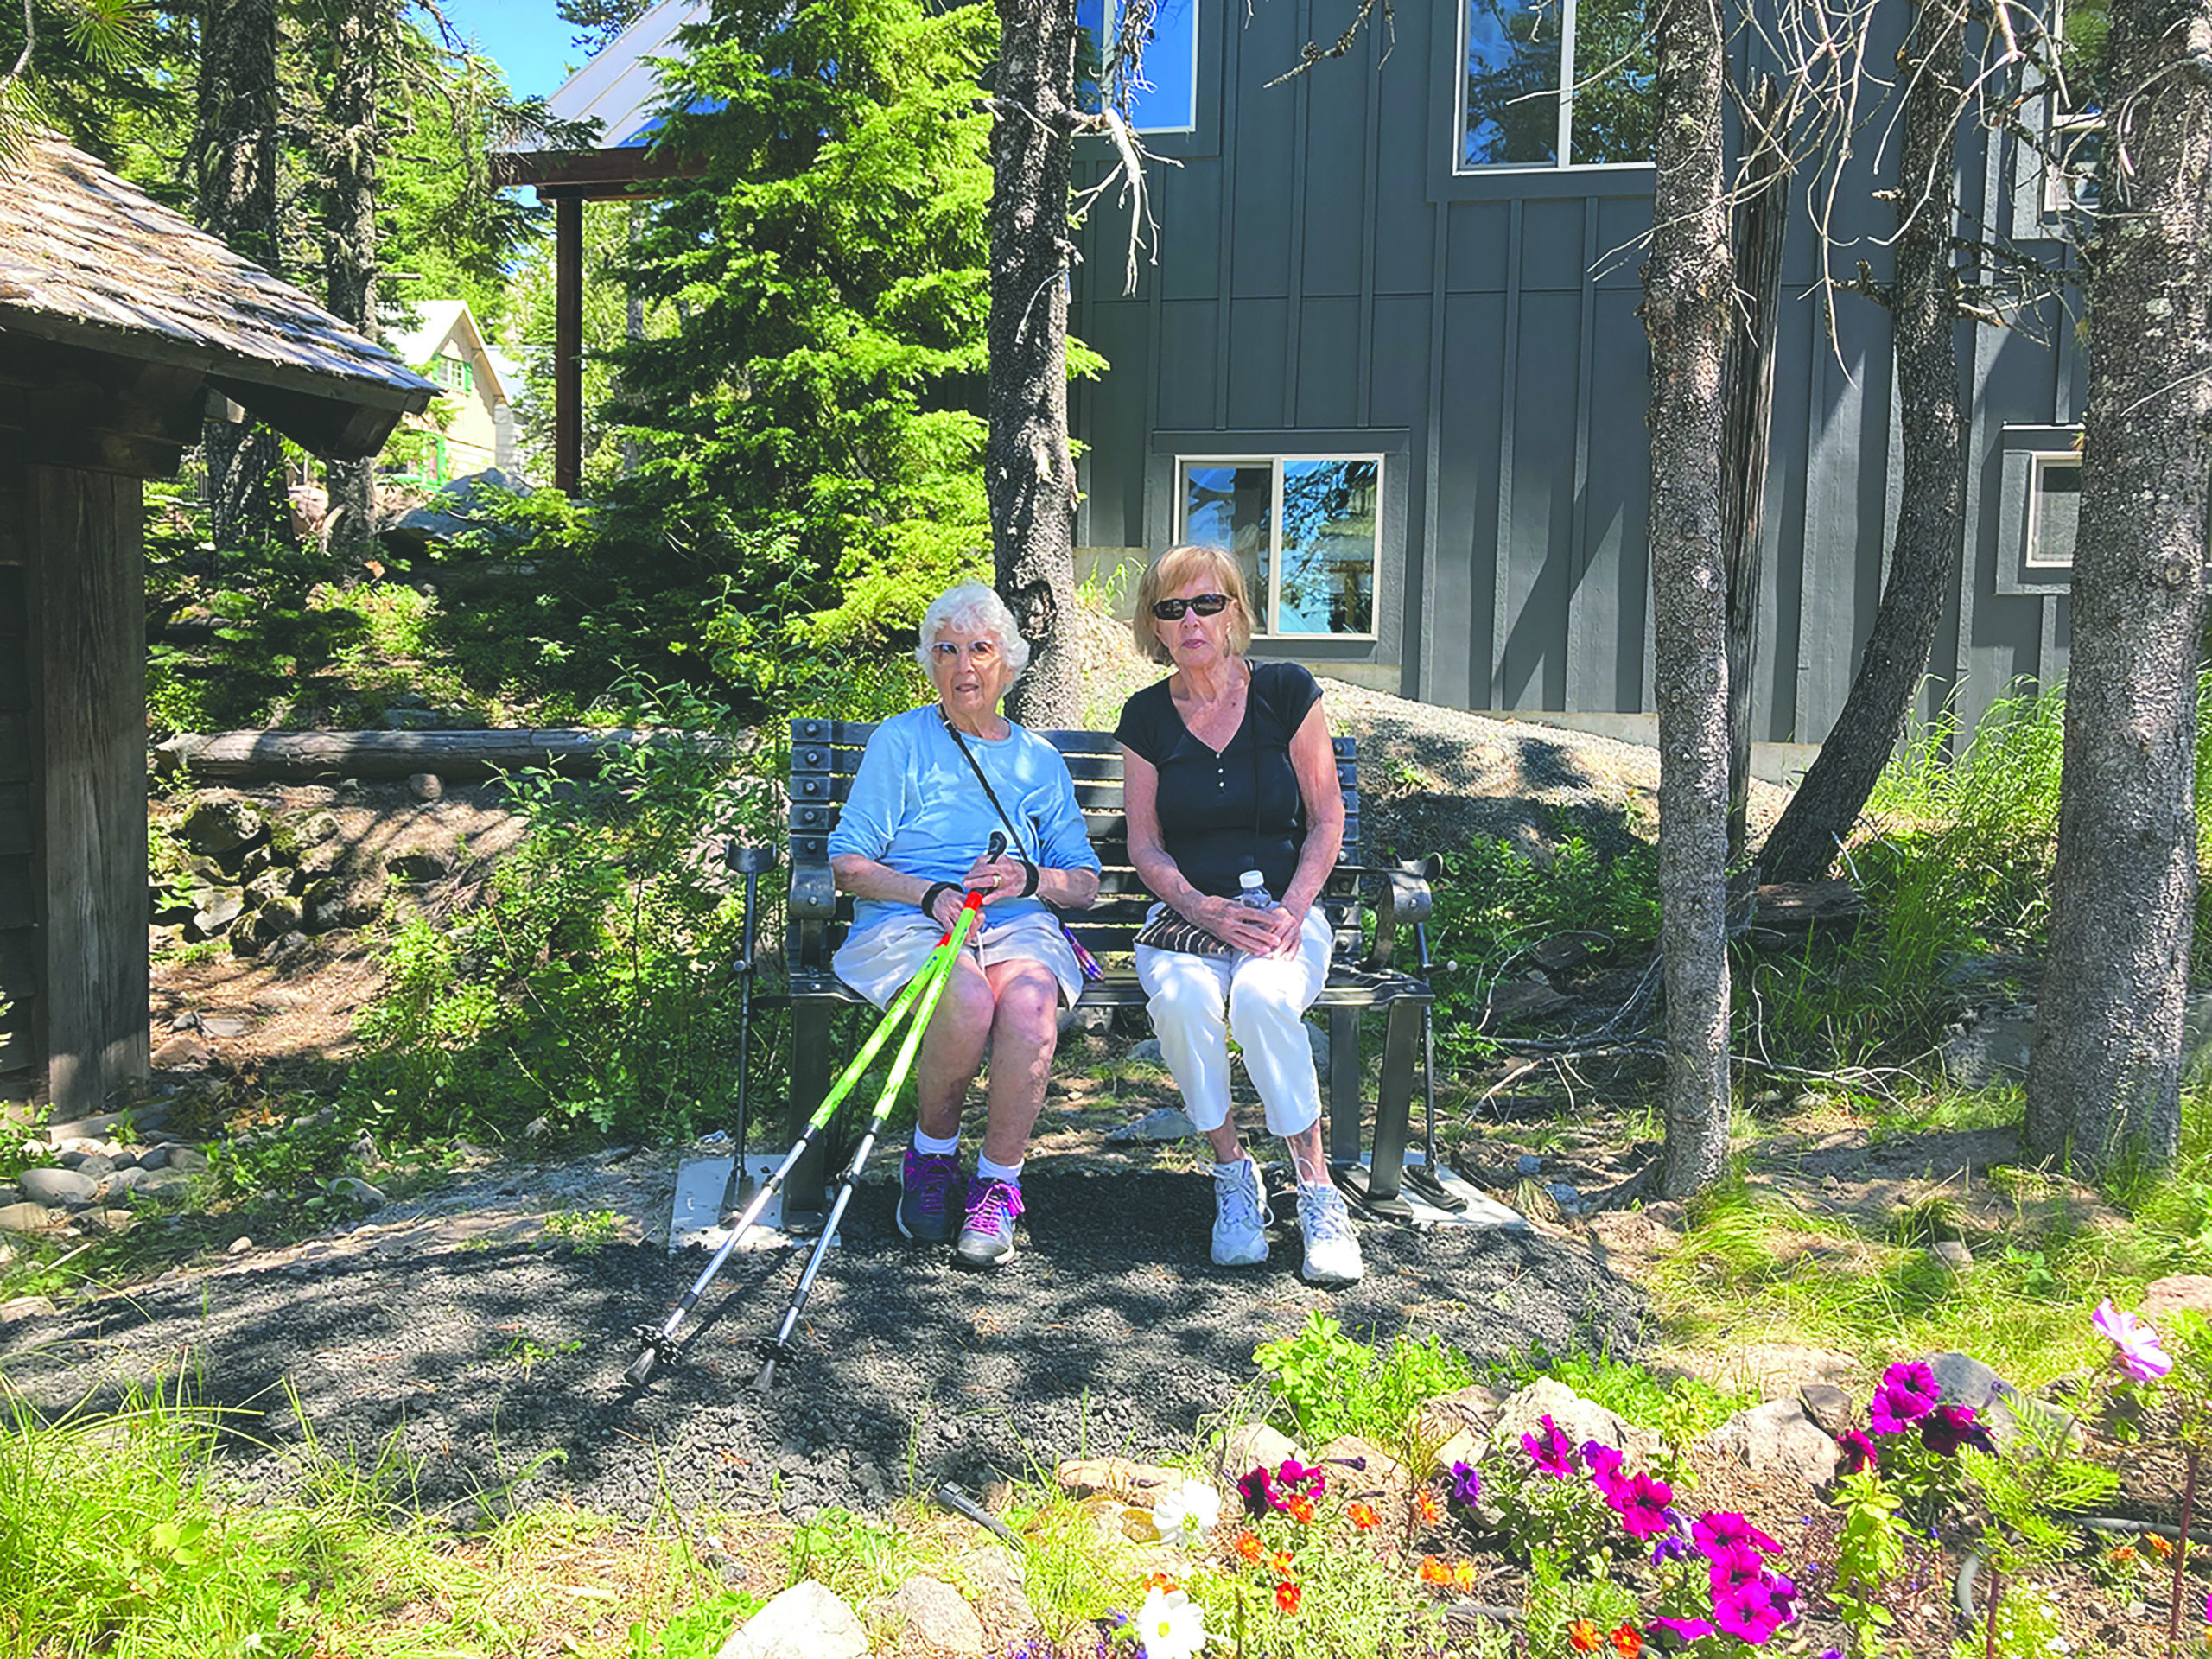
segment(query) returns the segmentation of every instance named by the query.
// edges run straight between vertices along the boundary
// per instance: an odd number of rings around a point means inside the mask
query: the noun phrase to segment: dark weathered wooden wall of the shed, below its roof
[[[135,478],[0,460],[0,1062],[62,1113],[146,1075],[139,524]]]

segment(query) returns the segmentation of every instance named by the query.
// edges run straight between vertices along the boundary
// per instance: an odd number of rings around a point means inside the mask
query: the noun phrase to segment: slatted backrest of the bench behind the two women
[[[785,949],[794,969],[827,971],[830,951],[845,938],[852,900],[830,880],[830,832],[852,794],[874,723],[792,721],[792,922]],[[1068,927],[1095,956],[1128,956],[1130,938],[1152,905],[1128,863],[1128,823],[1121,816],[1121,745],[1113,732],[1040,732],[1066,757],[1075,779],[1075,803],[1091,830],[1091,845],[1106,867],[1099,898],[1088,911],[1068,911]],[[1345,790],[1345,849],[1338,874],[1323,891],[1323,909],[1336,927],[1338,960],[1360,953],[1358,880],[1345,869],[1360,863],[1358,743],[1336,743],[1336,779]]]

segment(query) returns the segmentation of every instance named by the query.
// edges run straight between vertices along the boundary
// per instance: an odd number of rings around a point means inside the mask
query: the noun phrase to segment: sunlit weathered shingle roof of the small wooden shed
[[[122,385],[82,354],[153,372]],[[22,394],[86,376],[111,394],[95,425],[122,440],[197,442],[204,392],[215,389],[294,442],[345,460],[374,456],[400,414],[429,407],[438,392],[84,150],[42,137],[0,181],[0,427],[40,434],[58,411],[24,407],[35,400]],[[117,398],[139,431],[117,418]]]

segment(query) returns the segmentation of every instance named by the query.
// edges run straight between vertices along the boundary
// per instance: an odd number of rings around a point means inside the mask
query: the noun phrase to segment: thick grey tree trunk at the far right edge
[[[2212,20],[2112,0],[2088,261],[2088,449],[2028,1148],[2081,1175],[2181,1139],[2197,655],[2212,469]]]

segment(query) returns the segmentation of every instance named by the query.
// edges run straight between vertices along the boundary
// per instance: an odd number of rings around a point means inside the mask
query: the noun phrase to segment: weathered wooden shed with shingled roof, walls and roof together
[[[434,394],[82,150],[0,179],[0,1097],[146,1075],[142,480],[232,405],[354,460]]]

